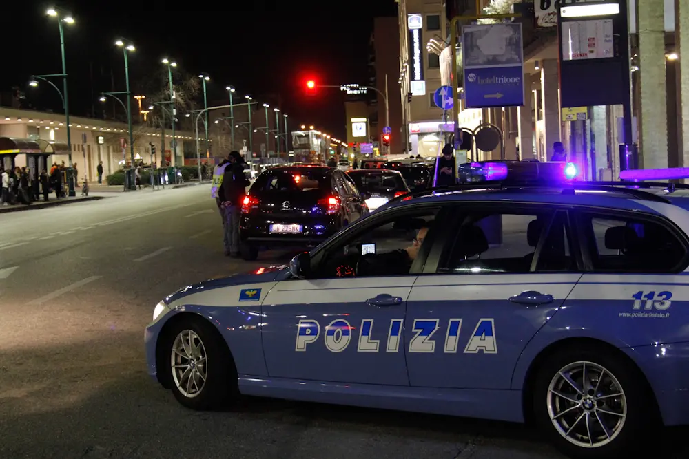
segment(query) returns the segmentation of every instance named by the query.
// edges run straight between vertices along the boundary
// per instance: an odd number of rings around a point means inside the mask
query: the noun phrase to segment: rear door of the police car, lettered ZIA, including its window
[[[546,206],[457,206],[407,306],[409,381],[510,389],[522,350],[582,276],[568,214]]]

